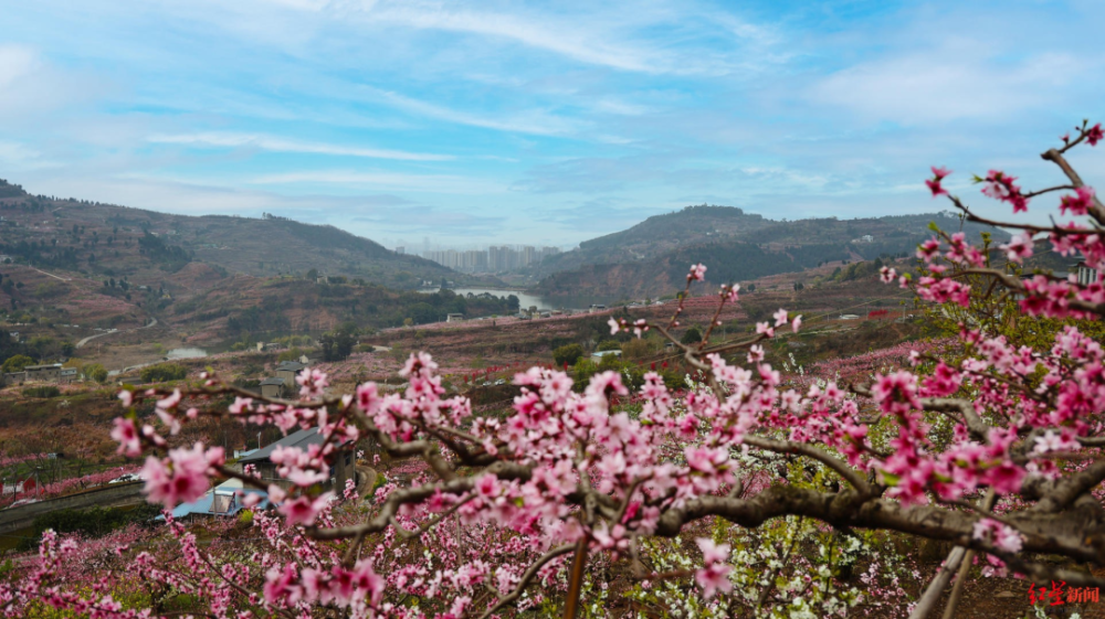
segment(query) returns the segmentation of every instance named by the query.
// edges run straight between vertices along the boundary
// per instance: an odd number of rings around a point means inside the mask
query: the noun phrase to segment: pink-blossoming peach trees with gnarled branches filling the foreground
[[[1060,253],[1081,253],[1105,273],[1105,207],[1064,159],[1071,148],[1101,139],[1099,125],[1084,124],[1063,148],[1044,153],[1067,174],[1066,185],[1023,192],[1004,172],[979,179],[983,193],[1014,212],[1039,195],[1073,192],[1062,198],[1061,214],[1092,220],[1001,224],[1023,231],[1002,246],[1010,260],[1030,256],[1033,236],[1044,234]],[[934,174],[927,181],[933,194],[946,194],[948,172]],[[966,217],[996,223],[950,199]],[[918,256],[925,264],[916,281],[890,268],[884,280],[934,303],[967,305],[969,278],[986,278],[992,290],[1015,295],[1029,316],[1105,314],[1101,275],[1088,284],[1045,274],[1021,279],[988,266],[983,249],[961,234],[943,232]],[[705,270],[692,267],[687,289]],[[617,404],[631,398],[617,373],[597,374],[576,391],[566,374],[535,367],[515,376],[520,395],[508,417],[474,416],[466,398],[446,396],[427,354],[407,361],[401,373],[409,384],[401,394],[366,383],[355,394],[328,395],[327,376],[317,370],[298,377],[295,401],[260,397],[213,375],[171,392],[123,392],[127,407],[156,401],[161,421],[155,427],[125,416],[113,431],[129,457],[165,452],[146,459],[150,501],[171,508],[201,497],[212,478],[233,477],[266,490],[278,505],[256,515],[262,536],[255,549],[233,561],[212,558],[172,523],[179,553],[143,552],[131,572],[194,596],[212,617],[456,619],[513,609],[576,617],[581,604],[608,595],[603,575],[611,574],[633,583],[627,595],[641,604],[672,597],[678,583],[686,597],[693,583],[697,595],[687,608],[698,615],[782,613],[817,596],[829,613],[857,600],[846,591],[830,595],[832,574],[794,572],[799,541],[832,540],[832,556],[865,543],[870,532],[894,532],[956,546],[915,607],[918,617],[933,608],[957,566],[966,576],[965,557],[976,554],[989,574],[1105,584],[1040,559],[1048,554],[1105,564],[1105,510],[1094,494],[1105,480],[1105,371],[1097,341],[1071,323],[1036,350],[965,323],[959,339],[967,352],[955,363],[917,352],[913,371],[848,385],[788,383],[765,362],[762,344],[785,335],[777,330],[797,332],[801,317],[779,310],[746,339],[711,343],[717,317],[738,295],[737,286],[720,289],[715,319],[696,343],[672,335],[682,305],[663,322],[611,319],[612,333],[659,331],[702,376],[676,398],[650,373],[631,406]],[[235,399],[224,409],[209,404],[228,395]],[[181,426],[200,416],[285,431],[315,427],[323,441],[272,453],[293,483],[285,491],[227,467],[221,448],[170,448]],[[409,484],[380,488],[370,503],[347,489],[349,501],[336,508],[334,492],[314,489],[328,478],[340,446],[364,438],[422,467]],[[782,543],[746,544],[748,534],[778,523],[791,525]],[[681,535],[694,543],[673,543]],[[106,586],[71,586],[57,568],[69,552],[75,551],[48,536],[38,566],[0,589],[7,611],[46,604],[96,617],[161,612],[124,608]],[[754,596],[740,588],[750,565],[760,566],[753,580],[778,576]],[[871,562],[872,578],[881,565]]]

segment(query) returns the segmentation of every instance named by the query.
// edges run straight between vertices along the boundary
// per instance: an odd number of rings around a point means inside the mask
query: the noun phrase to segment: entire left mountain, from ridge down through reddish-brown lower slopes
[[[516,298],[415,291],[423,280],[502,285],[333,226],[171,215],[29,195],[0,181],[0,321],[28,341],[99,345],[87,339],[96,329],[118,329],[117,344],[208,345],[517,311]]]

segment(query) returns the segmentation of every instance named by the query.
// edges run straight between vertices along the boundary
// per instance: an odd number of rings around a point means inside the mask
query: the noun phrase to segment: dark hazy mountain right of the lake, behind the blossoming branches
[[[707,281],[719,285],[827,263],[901,257],[932,235],[930,222],[946,231],[960,230],[959,218],[948,213],[788,222],[728,206],[688,206],[583,242],[559,260],[543,264],[548,275],[536,292],[655,297],[681,289],[688,267],[696,263],[708,267]],[[964,224],[961,230],[975,242],[983,232],[996,241],[1009,238],[1000,230],[977,224]]]

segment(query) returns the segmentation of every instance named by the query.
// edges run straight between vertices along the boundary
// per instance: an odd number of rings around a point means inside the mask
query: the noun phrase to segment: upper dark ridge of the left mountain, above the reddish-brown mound
[[[392,288],[470,276],[334,226],[283,217],[188,216],[75,199],[28,195],[0,184],[0,255],[92,278],[151,279],[201,263],[224,275],[359,277]]]

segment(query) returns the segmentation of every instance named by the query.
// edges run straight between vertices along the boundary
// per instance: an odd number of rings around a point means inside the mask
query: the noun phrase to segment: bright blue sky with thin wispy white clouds
[[[0,178],[388,246],[570,247],[691,204],[1009,216],[1101,118],[1099,1],[0,0]],[[1093,184],[1105,152],[1073,163]],[[1041,217],[1045,205],[1030,217]]]

